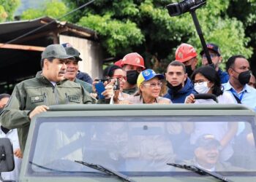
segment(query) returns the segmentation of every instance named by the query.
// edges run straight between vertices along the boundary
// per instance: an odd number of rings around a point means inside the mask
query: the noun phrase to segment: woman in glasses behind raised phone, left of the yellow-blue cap
[[[103,76],[105,79],[118,79],[116,83],[119,85],[119,89],[115,90],[114,100],[124,100],[129,98],[129,94],[123,92],[124,82],[127,81],[126,71],[116,65],[111,65],[105,68],[103,71]]]

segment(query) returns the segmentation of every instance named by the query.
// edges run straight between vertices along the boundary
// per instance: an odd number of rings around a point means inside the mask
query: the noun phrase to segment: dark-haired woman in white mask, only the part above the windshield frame
[[[223,92],[219,75],[211,66],[197,68],[191,79],[197,93],[214,94],[219,103],[236,103],[229,92]],[[185,103],[215,103],[215,101],[211,99],[195,100],[195,96],[191,94],[186,98]]]

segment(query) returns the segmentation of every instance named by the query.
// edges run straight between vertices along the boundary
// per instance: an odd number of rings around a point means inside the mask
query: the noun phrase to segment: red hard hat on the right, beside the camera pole
[[[179,62],[183,63],[187,60],[190,60],[192,58],[195,58],[197,56],[197,52],[195,51],[195,48],[192,47],[192,45],[189,44],[181,44],[175,53],[175,58]]]

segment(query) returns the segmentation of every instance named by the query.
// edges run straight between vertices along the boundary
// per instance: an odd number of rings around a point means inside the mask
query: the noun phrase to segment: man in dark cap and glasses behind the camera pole
[[[207,49],[211,56],[212,63],[214,64],[214,68],[218,72],[221,83],[222,84],[227,83],[227,81],[229,79],[227,72],[222,71],[222,69],[219,68],[220,63],[222,63],[222,55],[219,50],[219,47],[216,44],[209,43],[209,44],[207,44]],[[207,60],[206,54],[203,50],[200,52],[200,55],[202,56],[203,66],[208,65],[208,60]]]

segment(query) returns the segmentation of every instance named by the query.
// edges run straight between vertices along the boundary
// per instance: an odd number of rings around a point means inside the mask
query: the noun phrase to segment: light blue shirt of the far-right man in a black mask
[[[224,90],[229,91],[232,95],[236,95],[237,98],[241,100],[241,103],[245,106],[252,108],[256,111],[256,90],[246,84],[241,92],[236,92],[236,90],[231,86],[230,82],[223,84]],[[235,98],[235,97],[234,97]]]

